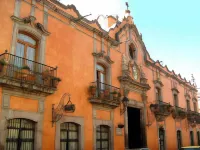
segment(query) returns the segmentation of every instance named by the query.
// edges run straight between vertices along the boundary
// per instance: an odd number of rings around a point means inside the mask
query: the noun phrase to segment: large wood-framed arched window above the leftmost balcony
[[[26,34],[19,33],[16,52],[15,52],[16,56],[19,56],[19,58],[15,60],[15,64],[18,65],[19,67],[27,65],[32,69],[33,68],[32,61],[35,61],[36,59],[36,47],[37,47],[36,40],[34,40],[32,37]]]

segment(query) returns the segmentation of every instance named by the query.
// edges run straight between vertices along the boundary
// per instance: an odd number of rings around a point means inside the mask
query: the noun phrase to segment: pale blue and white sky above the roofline
[[[151,58],[163,61],[169,70],[191,80],[200,88],[200,0],[60,0],[74,4],[81,15],[119,15],[129,3]]]

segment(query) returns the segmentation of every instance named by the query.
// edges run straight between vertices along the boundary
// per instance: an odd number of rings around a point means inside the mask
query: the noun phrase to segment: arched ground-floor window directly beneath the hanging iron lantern
[[[60,127],[60,150],[78,150],[78,125],[75,123],[62,123]]]

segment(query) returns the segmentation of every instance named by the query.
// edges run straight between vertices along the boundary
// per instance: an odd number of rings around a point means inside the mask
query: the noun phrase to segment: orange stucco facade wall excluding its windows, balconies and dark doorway
[[[81,122],[79,149],[96,149],[95,125],[100,124],[110,127],[110,150],[128,149],[128,128],[131,128],[128,127],[128,121],[134,120],[134,117],[127,117],[127,109],[122,104],[123,97],[129,99],[128,107],[141,110],[142,136],[146,137],[143,138],[142,146],[159,150],[159,128],[165,131],[166,150],[177,149],[177,130],[182,133],[182,146],[190,145],[190,131],[194,133],[194,144],[198,145],[198,123],[191,126],[187,117],[175,119],[171,113],[159,120],[150,109],[152,104],[157,103],[158,87],[162,101],[174,108],[175,91],[178,106],[187,108],[186,100],[189,100],[191,110],[194,111],[197,90],[180,75],[168,70],[167,66],[150,58],[131,16],[122,22],[118,21],[116,27],[106,32],[97,21],[76,20],[81,16],[75,6],[64,6],[54,0],[0,0],[0,15],[0,53],[8,50],[8,53],[15,54],[15,34],[19,32],[35,36],[38,42],[36,54],[39,54],[35,61],[58,67],[56,74],[61,79],[53,93],[44,95],[42,92],[34,93],[31,89],[27,92],[22,88],[15,88],[15,85],[7,86],[7,82],[1,84],[0,135],[4,136],[1,136],[0,149],[6,149],[6,121],[13,118],[32,119],[36,124],[40,122],[40,129],[35,132],[40,137],[35,140],[38,142],[35,150],[61,149],[58,146],[60,134],[57,133],[60,132],[60,128],[57,128],[59,122],[73,121],[77,124]],[[29,16],[33,16],[35,20],[25,23],[23,18]],[[109,26],[117,21],[112,17],[108,20]],[[40,23],[42,27],[35,23]],[[130,45],[134,45],[134,58],[130,56]],[[89,86],[97,80],[97,64],[107,70],[105,82],[120,88],[121,97],[117,107],[90,101]],[[136,71],[133,70],[134,66]],[[144,83],[143,78],[147,79]],[[52,105],[56,108],[64,93],[70,93],[75,111],[69,113],[63,110],[62,118],[52,126]],[[67,101],[68,97],[64,104]],[[122,109],[124,112],[120,114]],[[124,128],[118,128],[119,123],[124,124]]]

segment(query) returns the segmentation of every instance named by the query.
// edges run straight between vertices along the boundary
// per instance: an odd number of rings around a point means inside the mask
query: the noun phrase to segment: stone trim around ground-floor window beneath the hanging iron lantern
[[[65,122],[79,125],[79,150],[84,150],[84,118],[76,116],[63,116],[56,122],[55,150],[60,150],[60,125]]]

